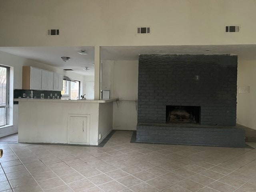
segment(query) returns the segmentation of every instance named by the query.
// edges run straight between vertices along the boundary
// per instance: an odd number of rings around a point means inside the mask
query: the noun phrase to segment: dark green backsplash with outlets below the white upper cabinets
[[[44,90],[24,90],[14,89],[14,98],[30,98],[30,99],[60,99],[60,91],[44,91]]]

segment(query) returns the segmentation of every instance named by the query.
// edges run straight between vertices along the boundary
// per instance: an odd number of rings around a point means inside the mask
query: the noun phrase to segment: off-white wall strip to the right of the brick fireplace
[[[256,130],[256,60],[246,61],[238,58],[237,88],[250,86],[250,93],[237,92],[236,122]]]

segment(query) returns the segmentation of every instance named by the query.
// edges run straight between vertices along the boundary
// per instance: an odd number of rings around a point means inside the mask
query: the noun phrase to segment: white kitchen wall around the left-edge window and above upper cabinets
[[[81,81],[81,87],[83,88],[83,80],[84,76],[75,74],[73,72],[66,72],[60,68],[52,67],[43,63],[35,62],[32,60],[28,60],[26,58],[14,56],[12,54],[7,54],[4,52],[0,52],[0,65],[10,66],[12,67],[13,72],[13,86],[10,87],[12,89],[22,89],[22,66],[34,66],[37,68],[41,68],[44,70],[49,70],[52,72],[68,75],[71,78]],[[13,95],[12,95],[13,97]],[[12,102],[12,99],[10,100]],[[9,134],[13,134],[18,132],[18,105],[13,105],[13,126],[7,128],[0,129],[0,137],[6,136]]]

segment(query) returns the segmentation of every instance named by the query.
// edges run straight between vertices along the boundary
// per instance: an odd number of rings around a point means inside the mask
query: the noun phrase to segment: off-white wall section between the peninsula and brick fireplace
[[[119,99],[113,102],[113,129],[136,130],[138,60],[102,61],[102,88]]]

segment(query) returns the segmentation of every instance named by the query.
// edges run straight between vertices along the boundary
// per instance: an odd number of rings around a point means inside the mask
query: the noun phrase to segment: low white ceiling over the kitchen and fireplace
[[[87,55],[78,54],[86,50]],[[256,60],[256,45],[195,46],[102,46],[101,60],[138,60],[139,54],[235,54],[241,60]],[[0,47],[0,51],[42,62],[81,75],[94,75],[94,46]],[[70,57],[67,62],[61,57]],[[88,67],[89,70],[83,70]]]

